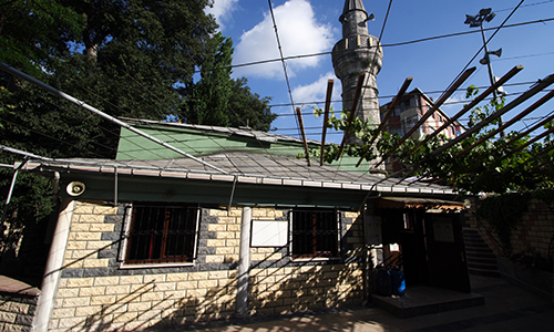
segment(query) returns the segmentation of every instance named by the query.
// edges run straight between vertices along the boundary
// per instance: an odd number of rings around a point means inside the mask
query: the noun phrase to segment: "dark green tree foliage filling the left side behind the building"
[[[243,125],[249,118],[255,128],[267,131],[275,118],[269,100],[252,93],[245,79],[230,79],[233,44],[215,33],[214,17],[204,12],[211,3],[0,0],[0,61],[112,116],[223,126]],[[203,72],[198,82],[195,69]],[[187,117],[191,107],[216,116],[194,118],[189,113]],[[113,158],[119,129],[0,72],[2,145],[45,157]],[[2,164],[17,160],[22,156],[0,154]],[[12,169],[0,169],[3,195],[12,174]],[[45,194],[51,193],[48,179],[21,174],[17,190],[6,221],[13,226],[9,227],[12,235],[39,222],[53,208]],[[28,194],[18,196],[22,193]]]

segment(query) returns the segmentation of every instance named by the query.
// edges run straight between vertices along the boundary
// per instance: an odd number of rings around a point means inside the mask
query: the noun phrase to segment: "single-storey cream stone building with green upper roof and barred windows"
[[[419,229],[422,217],[452,240],[435,246],[459,242],[453,225],[463,203],[452,201],[447,187],[308,167],[290,155],[302,146],[291,137],[130,123],[188,145],[196,159],[151,148],[123,128],[116,160],[32,159],[23,167],[57,174],[63,188],[39,331],[132,330],[359,304],[370,291],[368,246],[398,242],[398,231]],[[437,206],[442,214],[424,214]],[[381,225],[389,225],[382,235]],[[407,276],[421,269],[422,240],[403,240],[417,256]],[[443,258],[432,259],[435,269]],[[464,276],[445,272],[458,276],[448,280]]]

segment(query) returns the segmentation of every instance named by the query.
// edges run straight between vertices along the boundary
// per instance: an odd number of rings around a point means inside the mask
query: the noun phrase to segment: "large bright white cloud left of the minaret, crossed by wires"
[[[289,0],[283,6],[276,7],[274,14],[284,56],[330,50],[334,42],[331,28],[316,21],[309,1]],[[234,62],[242,64],[279,58],[274,23],[268,11],[261,22],[243,33],[240,42],[236,45]],[[294,76],[299,70],[317,66],[320,60],[321,56],[289,60],[287,61],[287,72]],[[237,68],[235,74],[238,76],[255,75],[266,79],[284,79],[280,62]]]

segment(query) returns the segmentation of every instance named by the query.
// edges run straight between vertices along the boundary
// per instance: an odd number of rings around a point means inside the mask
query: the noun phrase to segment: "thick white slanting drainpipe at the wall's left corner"
[[[74,200],[70,198],[64,198],[60,205],[61,211],[58,216],[52,245],[48,255],[44,278],[42,279],[41,295],[39,298],[37,315],[33,322],[33,331],[48,331],[48,324],[54,308],[54,298],[58,290],[58,282],[60,281],[65,247],[68,246],[74,205]]]

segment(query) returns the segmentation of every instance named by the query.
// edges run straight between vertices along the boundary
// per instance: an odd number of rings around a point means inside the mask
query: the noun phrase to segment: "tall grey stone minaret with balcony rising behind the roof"
[[[368,12],[362,0],[346,0],[339,18],[342,39],[332,48],[332,66],[342,83],[342,107],[350,111],[358,75],[366,72],[366,81],[358,102],[356,116],[376,126],[380,123],[376,75],[382,66],[382,50],[379,39],[370,35],[367,27]],[[356,138],[350,137],[350,143]]]

